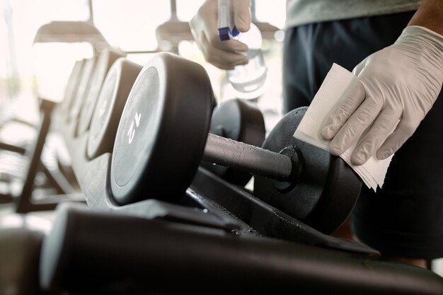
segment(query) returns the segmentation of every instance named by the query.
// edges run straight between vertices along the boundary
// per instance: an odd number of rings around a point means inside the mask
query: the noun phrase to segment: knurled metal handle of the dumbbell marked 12
[[[203,161],[275,180],[288,180],[292,171],[292,161],[289,156],[211,133],[207,137]]]

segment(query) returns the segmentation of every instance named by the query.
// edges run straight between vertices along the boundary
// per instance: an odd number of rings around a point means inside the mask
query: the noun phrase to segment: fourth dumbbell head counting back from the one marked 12
[[[74,100],[72,100],[71,105],[69,105],[68,121],[73,122],[72,124],[74,125],[78,124],[81,106],[83,105],[86,96],[88,96],[89,88],[91,87],[91,78],[93,76],[96,62],[97,57],[86,59],[83,71],[81,72],[79,88],[77,89]]]

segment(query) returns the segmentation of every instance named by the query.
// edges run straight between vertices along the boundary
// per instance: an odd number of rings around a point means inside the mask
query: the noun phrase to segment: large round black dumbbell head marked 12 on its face
[[[115,201],[182,197],[202,158],[211,113],[205,69],[156,54],[140,71],[117,129],[110,168]]]

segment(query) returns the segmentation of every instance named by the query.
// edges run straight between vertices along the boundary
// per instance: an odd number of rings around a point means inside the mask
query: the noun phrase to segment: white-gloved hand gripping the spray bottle
[[[234,24],[240,32],[249,30],[251,10],[249,0],[231,1]],[[191,19],[190,28],[197,46],[207,62],[220,69],[234,69],[239,64],[248,64],[248,58],[238,52],[248,51],[248,46],[238,40],[221,41],[217,28],[217,0],[207,0]]]

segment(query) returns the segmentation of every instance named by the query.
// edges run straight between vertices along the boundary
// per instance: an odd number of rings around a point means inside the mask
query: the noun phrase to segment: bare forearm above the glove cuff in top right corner
[[[443,0],[423,0],[408,25],[421,25],[443,35]]]

